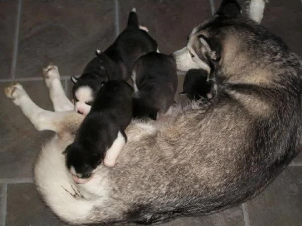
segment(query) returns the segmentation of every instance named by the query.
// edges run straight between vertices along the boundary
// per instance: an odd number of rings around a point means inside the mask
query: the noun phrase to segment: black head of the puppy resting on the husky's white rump
[[[101,163],[100,154],[89,153],[74,143],[69,145],[63,154],[66,155],[66,166],[76,183],[87,183]]]

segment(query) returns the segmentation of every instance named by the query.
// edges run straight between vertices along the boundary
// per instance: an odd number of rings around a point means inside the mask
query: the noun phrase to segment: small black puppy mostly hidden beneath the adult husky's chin
[[[190,69],[184,79],[183,91],[191,100],[211,99],[215,95],[217,85],[208,80],[208,72],[204,69]]]

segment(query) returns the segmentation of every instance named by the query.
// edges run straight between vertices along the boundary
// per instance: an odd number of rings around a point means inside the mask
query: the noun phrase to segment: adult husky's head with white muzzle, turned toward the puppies
[[[177,69],[187,72],[190,69],[204,69],[208,73],[211,62],[220,60],[221,39],[215,35],[215,27],[209,26],[219,19],[232,19],[241,15],[240,5],[235,0],[223,0],[213,18],[204,21],[193,29],[188,36],[187,46],[174,52]]]

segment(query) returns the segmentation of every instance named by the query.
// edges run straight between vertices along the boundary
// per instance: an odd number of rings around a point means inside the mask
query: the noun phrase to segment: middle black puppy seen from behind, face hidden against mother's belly
[[[134,85],[133,117],[157,120],[174,103],[177,90],[175,60],[162,53],[141,56],[132,71]]]

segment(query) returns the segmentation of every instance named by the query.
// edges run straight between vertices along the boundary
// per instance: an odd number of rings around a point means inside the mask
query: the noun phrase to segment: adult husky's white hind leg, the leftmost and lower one
[[[42,109],[31,100],[19,83],[13,83],[10,86],[5,87],[5,93],[21,108],[23,114],[39,131],[51,130],[57,133],[60,121],[66,119],[69,115],[77,114],[73,110],[53,112]]]

